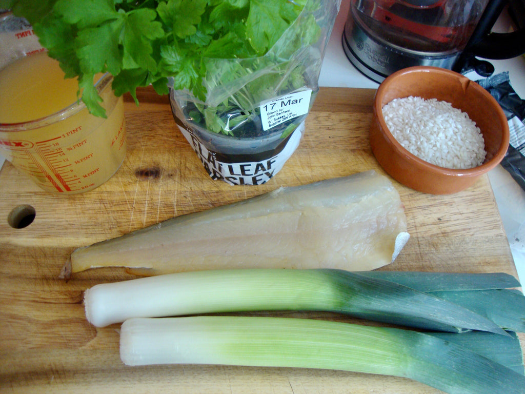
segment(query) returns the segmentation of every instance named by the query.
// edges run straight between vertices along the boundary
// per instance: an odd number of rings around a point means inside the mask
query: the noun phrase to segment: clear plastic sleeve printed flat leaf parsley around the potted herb
[[[308,0],[264,56],[206,59],[204,101],[171,89],[175,120],[213,179],[265,183],[295,151],[339,6]]]

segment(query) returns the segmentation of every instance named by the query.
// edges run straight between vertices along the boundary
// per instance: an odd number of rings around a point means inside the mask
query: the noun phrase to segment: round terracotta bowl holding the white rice
[[[382,107],[395,98],[408,96],[448,101],[467,112],[485,140],[485,162],[466,170],[447,169],[403,148],[388,130]],[[496,99],[476,82],[442,68],[409,67],[388,76],[377,89],[370,144],[381,167],[398,182],[425,193],[449,194],[468,188],[501,162],[509,146],[509,127]]]

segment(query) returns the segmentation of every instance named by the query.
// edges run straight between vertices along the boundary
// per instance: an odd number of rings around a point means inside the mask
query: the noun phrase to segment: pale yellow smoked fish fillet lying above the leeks
[[[62,275],[101,266],[139,275],[225,268],[341,268],[391,263],[408,240],[404,207],[366,171],[186,214],[74,251]]]

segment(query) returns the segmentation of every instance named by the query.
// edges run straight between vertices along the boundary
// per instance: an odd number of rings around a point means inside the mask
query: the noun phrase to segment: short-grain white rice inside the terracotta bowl
[[[383,106],[383,117],[401,146],[428,163],[464,170],[485,161],[479,127],[449,102],[398,98]]]

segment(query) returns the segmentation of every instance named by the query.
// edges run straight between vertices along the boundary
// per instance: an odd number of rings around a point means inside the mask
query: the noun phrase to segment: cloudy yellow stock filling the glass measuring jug
[[[45,118],[77,101],[76,79],[65,79],[46,53],[20,58],[0,70],[0,123]],[[41,188],[78,193],[97,187],[120,167],[125,155],[122,98],[101,92],[108,118],[86,108],[59,122],[31,130],[0,131],[0,152]]]

